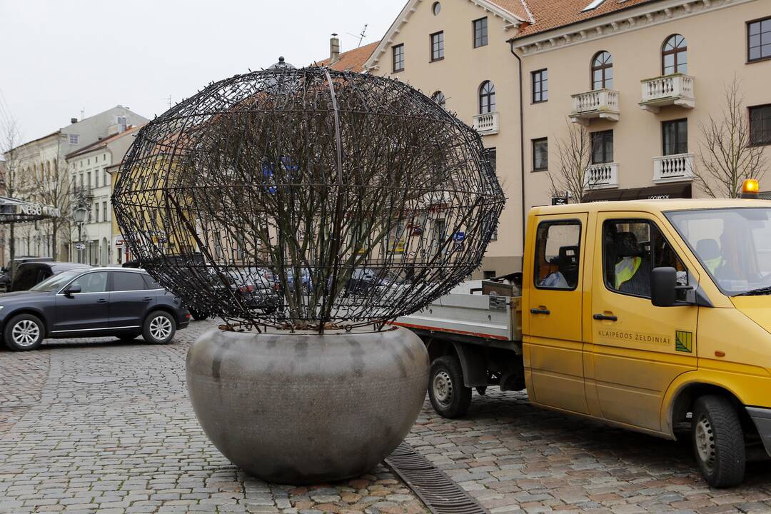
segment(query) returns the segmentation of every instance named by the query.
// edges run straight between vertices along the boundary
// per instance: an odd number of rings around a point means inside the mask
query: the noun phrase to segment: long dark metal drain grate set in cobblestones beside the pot
[[[412,446],[402,442],[385,463],[433,514],[490,514],[463,488]]]

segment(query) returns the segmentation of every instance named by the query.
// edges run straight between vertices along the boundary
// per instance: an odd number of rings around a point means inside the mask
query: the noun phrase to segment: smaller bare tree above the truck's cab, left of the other
[[[589,175],[591,137],[583,125],[569,121],[566,124],[567,136],[557,139],[559,167],[556,172],[549,172],[550,193],[554,197],[567,193],[580,202],[593,185]]]

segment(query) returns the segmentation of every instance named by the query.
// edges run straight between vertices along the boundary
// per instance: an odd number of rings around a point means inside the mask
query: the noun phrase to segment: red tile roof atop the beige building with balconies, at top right
[[[503,0],[494,0],[495,3]],[[559,29],[566,25],[591,18],[598,18],[611,12],[621,11],[648,2],[659,0],[604,0],[597,8],[584,12],[592,0],[520,0],[535,19],[534,23],[520,25],[519,32],[513,39],[524,38],[527,35]]]

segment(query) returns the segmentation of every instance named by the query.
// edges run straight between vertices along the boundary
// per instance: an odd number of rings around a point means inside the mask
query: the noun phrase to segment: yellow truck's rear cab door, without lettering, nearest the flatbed
[[[587,213],[538,216],[524,337],[530,400],[588,413],[581,342]]]

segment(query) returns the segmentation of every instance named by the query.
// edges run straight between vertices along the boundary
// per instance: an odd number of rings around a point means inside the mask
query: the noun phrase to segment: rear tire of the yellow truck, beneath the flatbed
[[[443,418],[460,418],[471,405],[471,388],[463,385],[463,371],[458,358],[439,357],[431,363],[429,398]]]

